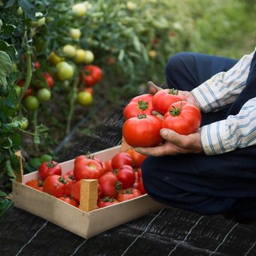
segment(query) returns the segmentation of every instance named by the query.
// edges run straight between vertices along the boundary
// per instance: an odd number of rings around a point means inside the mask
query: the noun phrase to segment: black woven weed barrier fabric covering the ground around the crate
[[[122,109],[119,107],[105,118],[94,134],[75,134],[59,152],[58,161],[119,144],[124,122]],[[222,215],[203,216],[166,206],[86,240],[11,207],[0,218],[0,245],[1,256],[255,256],[256,225],[236,223]]]

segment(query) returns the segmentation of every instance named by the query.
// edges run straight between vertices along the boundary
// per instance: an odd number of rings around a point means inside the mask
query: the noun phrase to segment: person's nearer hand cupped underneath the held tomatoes
[[[161,146],[142,148],[135,150],[147,156],[166,156],[177,154],[196,154],[203,151],[199,132],[189,135],[180,135],[170,129],[161,129],[161,137],[166,142]]]

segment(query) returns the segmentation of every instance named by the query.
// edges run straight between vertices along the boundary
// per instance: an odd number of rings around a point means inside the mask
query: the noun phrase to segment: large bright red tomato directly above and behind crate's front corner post
[[[100,178],[102,174],[102,166],[93,159],[81,159],[74,166],[76,181],[80,181],[82,178]]]

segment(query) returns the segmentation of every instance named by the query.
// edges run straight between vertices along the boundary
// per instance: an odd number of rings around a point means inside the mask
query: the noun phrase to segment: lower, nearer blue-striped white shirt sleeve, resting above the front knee
[[[248,100],[236,115],[201,127],[205,154],[223,154],[256,144],[256,97]]]

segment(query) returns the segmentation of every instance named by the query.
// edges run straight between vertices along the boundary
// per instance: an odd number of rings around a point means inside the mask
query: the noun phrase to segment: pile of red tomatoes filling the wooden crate
[[[142,181],[142,162],[146,156],[133,149],[115,154],[108,161],[90,155],[75,158],[74,169],[62,175],[60,165],[46,161],[39,166],[39,179],[27,186],[79,207],[81,179],[98,179],[98,208],[127,201],[146,193]]]

